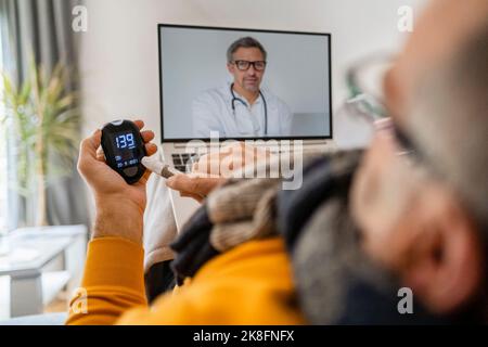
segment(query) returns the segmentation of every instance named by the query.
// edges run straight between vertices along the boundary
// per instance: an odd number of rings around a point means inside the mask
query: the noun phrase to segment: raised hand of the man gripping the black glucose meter
[[[136,120],[139,129],[142,120]],[[154,139],[152,131],[141,131],[147,155],[157,147],[149,143]],[[127,182],[105,163],[100,146],[102,131],[97,130],[80,145],[78,171],[90,187],[95,198],[97,218],[93,237],[119,236],[136,243],[142,242],[142,217],[145,208],[145,184],[151,172],[147,170],[139,182]]]

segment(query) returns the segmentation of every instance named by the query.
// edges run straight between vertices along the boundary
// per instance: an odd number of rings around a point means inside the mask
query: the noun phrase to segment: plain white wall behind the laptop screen
[[[86,0],[81,35],[85,131],[140,117],[159,139],[157,23],[332,34],[333,108],[346,95],[344,73],[359,57],[394,51],[406,36],[397,10],[425,0]],[[335,119],[338,140],[360,138]],[[341,129],[341,131],[338,131]],[[347,142],[347,141],[346,141]],[[345,142],[344,142],[345,143]]]

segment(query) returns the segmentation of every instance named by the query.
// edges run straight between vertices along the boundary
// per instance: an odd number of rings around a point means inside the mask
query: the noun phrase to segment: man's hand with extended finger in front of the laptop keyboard
[[[243,142],[203,155],[192,167],[190,175],[175,175],[166,184],[180,192],[181,196],[193,197],[202,202],[214,189],[249,164],[269,158],[267,150],[246,145]]]

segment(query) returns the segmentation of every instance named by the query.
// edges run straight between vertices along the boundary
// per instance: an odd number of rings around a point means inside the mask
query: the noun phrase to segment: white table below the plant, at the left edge
[[[64,287],[73,269],[69,269],[67,250],[82,245],[85,226],[26,228],[13,231],[2,242],[9,252],[0,255],[0,277],[10,277],[10,316],[21,317],[42,313],[47,292]],[[44,271],[49,264],[61,257],[63,270]],[[47,291],[50,287],[51,291]]]

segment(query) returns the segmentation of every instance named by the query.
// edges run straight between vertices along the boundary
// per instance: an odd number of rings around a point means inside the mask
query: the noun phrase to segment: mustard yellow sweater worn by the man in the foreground
[[[89,243],[67,324],[303,324],[290,261],[280,237],[252,241],[208,261],[189,282],[151,307],[144,253],[118,237]]]

